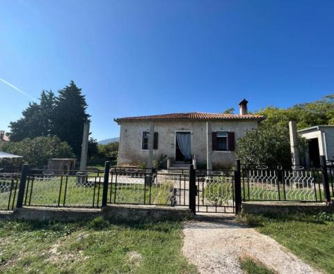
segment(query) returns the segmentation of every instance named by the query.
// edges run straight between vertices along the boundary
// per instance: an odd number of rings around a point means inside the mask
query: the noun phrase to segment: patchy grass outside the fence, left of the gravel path
[[[197,273],[177,222],[0,220],[0,273]]]

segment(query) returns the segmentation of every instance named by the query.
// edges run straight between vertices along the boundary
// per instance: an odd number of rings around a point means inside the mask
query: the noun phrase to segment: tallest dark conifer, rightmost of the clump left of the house
[[[86,108],[85,96],[81,94],[81,88],[78,88],[74,81],[70,82],[70,86],[59,90],[54,107],[52,132],[61,140],[66,141],[78,157],[81,152],[84,122],[89,122],[90,117],[86,113]]]

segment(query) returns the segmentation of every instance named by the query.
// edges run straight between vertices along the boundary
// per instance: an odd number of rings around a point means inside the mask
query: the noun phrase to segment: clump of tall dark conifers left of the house
[[[90,117],[86,109],[85,96],[73,81],[59,90],[58,97],[51,90],[43,90],[39,103],[30,103],[22,112],[21,119],[10,122],[10,140],[56,135],[67,142],[79,157],[84,122],[88,122]],[[91,143],[90,147],[93,149]]]

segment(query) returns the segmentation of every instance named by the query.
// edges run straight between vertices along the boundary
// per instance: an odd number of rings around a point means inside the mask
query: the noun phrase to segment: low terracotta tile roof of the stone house
[[[162,115],[148,115],[148,116],[136,116],[116,118],[116,122],[130,122],[130,121],[166,121],[166,120],[264,120],[263,115],[237,115],[237,114],[225,114],[225,113],[203,113],[203,112],[190,112],[190,113],[169,113]]]

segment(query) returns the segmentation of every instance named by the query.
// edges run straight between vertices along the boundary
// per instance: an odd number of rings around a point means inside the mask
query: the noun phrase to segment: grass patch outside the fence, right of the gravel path
[[[305,262],[334,273],[334,214],[244,215],[243,218]]]

